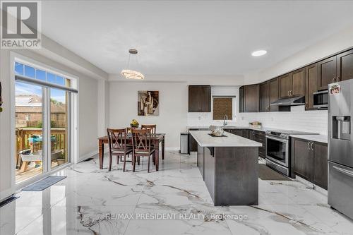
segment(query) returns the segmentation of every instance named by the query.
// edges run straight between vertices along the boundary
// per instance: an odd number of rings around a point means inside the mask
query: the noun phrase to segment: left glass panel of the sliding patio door
[[[43,93],[40,85],[16,82],[16,183],[43,173]]]

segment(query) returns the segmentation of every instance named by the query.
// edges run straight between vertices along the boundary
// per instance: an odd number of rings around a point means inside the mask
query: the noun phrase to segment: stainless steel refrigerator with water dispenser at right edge
[[[353,79],[328,93],[328,204],[353,219]]]

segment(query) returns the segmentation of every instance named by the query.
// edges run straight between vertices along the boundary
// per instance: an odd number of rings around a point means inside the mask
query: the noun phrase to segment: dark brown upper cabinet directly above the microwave
[[[337,56],[318,62],[318,90],[328,89],[328,84],[337,81],[336,75]]]

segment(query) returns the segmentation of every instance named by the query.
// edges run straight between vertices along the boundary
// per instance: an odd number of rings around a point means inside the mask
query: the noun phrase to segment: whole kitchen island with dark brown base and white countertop
[[[225,132],[190,131],[198,143],[197,166],[214,205],[258,205],[258,147],[262,144]]]

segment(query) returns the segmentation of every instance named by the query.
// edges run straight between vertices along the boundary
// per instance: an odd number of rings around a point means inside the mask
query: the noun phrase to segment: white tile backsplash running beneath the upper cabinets
[[[222,125],[223,121],[214,121],[212,113],[188,113],[188,126]],[[305,111],[304,105],[291,107],[291,112],[237,113],[235,121],[229,126],[248,126],[251,121],[260,121],[269,128],[307,131],[328,134],[328,111]]]

